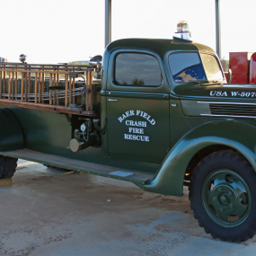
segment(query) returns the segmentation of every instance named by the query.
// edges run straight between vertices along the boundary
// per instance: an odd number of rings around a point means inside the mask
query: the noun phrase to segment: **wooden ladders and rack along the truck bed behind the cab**
[[[0,63],[0,104],[95,117],[95,87],[99,84],[93,82],[95,67]],[[81,87],[76,84],[78,77]]]

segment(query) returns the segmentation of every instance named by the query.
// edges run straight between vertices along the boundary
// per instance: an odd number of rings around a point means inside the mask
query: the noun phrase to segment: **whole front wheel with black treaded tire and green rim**
[[[256,231],[256,173],[242,154],[207,155],[190,179],[190,208],[207,234],[240,243]]]

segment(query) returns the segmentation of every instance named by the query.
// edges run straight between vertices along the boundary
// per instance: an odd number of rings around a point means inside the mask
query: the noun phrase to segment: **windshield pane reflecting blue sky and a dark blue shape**
[[[206,79],[198,53],[175,53],[169,56],[169,65],[175,82]]]

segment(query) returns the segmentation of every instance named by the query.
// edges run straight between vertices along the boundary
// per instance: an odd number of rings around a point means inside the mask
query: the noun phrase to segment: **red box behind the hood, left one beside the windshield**
[[[229,66],[232,71],[231,84],[249,84],[249,62],[252,52],[230,52]]]

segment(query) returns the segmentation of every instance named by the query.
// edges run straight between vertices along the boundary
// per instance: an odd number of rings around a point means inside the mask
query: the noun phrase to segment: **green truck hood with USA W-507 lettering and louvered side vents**
[[[182,87],[175,93],[180,93],[185,116],[251,119],[255,125],[256,85],[183,84]]]

